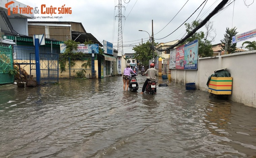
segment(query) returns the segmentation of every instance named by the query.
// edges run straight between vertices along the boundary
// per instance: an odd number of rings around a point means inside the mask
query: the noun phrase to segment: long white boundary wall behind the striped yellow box
[[[256,51],[239,52],[198,59],[198,70],[171,69],[171,80],[180,83],[195,82],[196,89],[208,91],[208,77],[215,70],[227,68],[232,80],[229,100],[256,107]],[[184,87],[185,88],[185,87]]]

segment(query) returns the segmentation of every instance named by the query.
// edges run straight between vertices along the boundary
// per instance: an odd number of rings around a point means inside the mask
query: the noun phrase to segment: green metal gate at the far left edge
[[[13,70],[11,46],[0,46],[0,84],[13,83],[14,76],[9,74],[10,70]]]

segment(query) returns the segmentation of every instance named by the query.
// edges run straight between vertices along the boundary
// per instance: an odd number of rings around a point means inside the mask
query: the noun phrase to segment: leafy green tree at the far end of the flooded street
[[[156,45],[157,43],[154,43],[154,46]],[[147,41],[146,43],[139,44],[138,46],[133,47],[132,50],[135,51],[135,59],[139,60],[142,65],[149,65],[149,60],[153,58],[151,42]]]

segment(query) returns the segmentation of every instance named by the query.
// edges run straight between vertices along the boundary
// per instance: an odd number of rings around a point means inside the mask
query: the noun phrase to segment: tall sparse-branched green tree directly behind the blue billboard
[[[190,23],[185,23],[187,34],[191,33],[198,25],[200,24],[199,20],[193,21]],[[213,28],[213,22],[208,21],[205,24],[206,32],[200,31],[194,33],[191,37],[186,39],[185,43],[192,42],[198,39],[198,56],[199,57],[209,57],[213,56],[212,50],[212,41],[214,41],[216,37],[216,31]]]

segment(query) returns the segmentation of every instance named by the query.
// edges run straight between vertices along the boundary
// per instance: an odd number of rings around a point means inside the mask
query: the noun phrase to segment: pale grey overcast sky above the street
[[[59,19],[35,19],[35,21],[73,21],[82,22],[86,32],[91,33],[98,41],[106,40],[113,43],[117,49],[118,45],[118,0],[18,0],[31,7],[38,7],[45,4],[46,7],[71,7],[72,14],[59,14],[63,18]],[[188,1],[188,2],[187,2]],[[204,0],[122,0],[122,31],[123,31],[123,52],[133,53],[132,46],[138,45],[149,39],[152,34],[152,20],[154,38],[158,43],[180,40],[185,34],[185,25],[177,29],[202,3]],[[186,23],[191,23],[198,16],[203,20],[222,0],[207,0],[192,15]],[[186,3],[187,2],[187,3]],[[230,0],[227,4],[233,2]],[[186,5],[183,7],[183,5]],[[251,4],[251,5],[250,5]],[[204,6],[204,7],[203,7]],[[225,5],[227,6],[227,5]],[[183,9],[179,12],[179,10]],[[179,13],[178,13],[179,12]],[[178,14],[177,14],[178,13]],[[171,19],[177,16],[171,21]],[[213,21],[216,29],[216,38],[212,44],[221,43],[224,38],[226,28],[236,27],[238,34],[256,29],[256,1],[235,0],[226,9],[214,15]],[[40,16],[40,14],[34,14]],[[33,21],[33,20],[29,20]],[[171,21],[171,22],[170,22]],[[169,24],[168,24],[169,23]],[[167,25],[168,24],[168,25]],[[164,29],[163,29],[164,28]],[[139,32],[144,30],[146,32]],[[204,31],[204,27],[199,31]],[[167,35],[170,36],[166,37]],[[166,37],[166,38],[164,38]],[[163,39],[162,39],[163,38]],[[256,41],[252,38],[248,41]],[[243,42],[237,43],[241,47]]]

